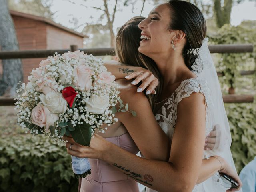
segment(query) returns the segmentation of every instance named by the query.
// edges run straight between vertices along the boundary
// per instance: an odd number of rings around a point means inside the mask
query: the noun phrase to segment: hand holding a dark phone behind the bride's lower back
[[[243,184],[242,184],[242,181],[240,180],[238,174],[236,173],[236,171],[234,171],[234,169],[226,162],[226,160],[224,160],[224,158],[221,158],[220,156],[215,156],[215,157],[218,158],[218,160],[220,160],[220,162],[222,164],[222,168],[220,169],[220,172],[230,176],[231,178],[233,178],[239,185],[238,189],[230,188],[226,191],[227,192],[232,192],[232,191],[240,190]]]

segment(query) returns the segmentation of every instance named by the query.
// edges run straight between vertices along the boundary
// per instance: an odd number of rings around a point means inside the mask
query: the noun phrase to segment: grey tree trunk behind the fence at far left
[[[0,0],[0,46],[2,51],[19,50],[16,31],[9,13],[7,0]],[[2,60],[3,75],[0,79],[0,96],[8,91],[9,96],[16,93],[16,85],[22,81],[22,62],[20,59]]]

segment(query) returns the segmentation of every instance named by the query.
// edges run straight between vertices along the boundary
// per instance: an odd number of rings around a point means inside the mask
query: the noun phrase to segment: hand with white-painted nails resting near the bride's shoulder
[[[137,92],[142,92],[146,88],[146,94],[156,94],[155,88],[158,86],[159,81],[158,79],[150,72],[149,70],[146,70],[144,68],[140,68],[139,70],[136,70],[132,74],[125,77],[126,79],[134,79],[132,81],[133,85],[138,84],[139,82],[142,82],[142,84],[137,89]]]

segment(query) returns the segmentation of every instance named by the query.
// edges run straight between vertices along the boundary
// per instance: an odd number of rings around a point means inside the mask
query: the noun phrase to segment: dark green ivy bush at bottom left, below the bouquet
[[[1,137],[0,191],[75,192],[78,180],[65,147],[46,136]]]

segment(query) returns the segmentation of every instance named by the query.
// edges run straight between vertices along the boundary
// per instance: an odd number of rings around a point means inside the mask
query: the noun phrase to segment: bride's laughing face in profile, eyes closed
[[[168,4],[156,6],[139,24],[141,32],[139,52],[151,57],[162,52],[172,51],[171,41],[175,36],[169,29],[171,18]]]

